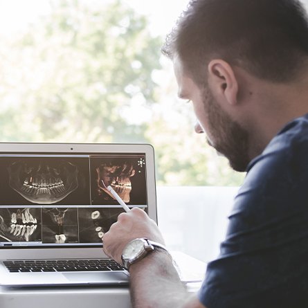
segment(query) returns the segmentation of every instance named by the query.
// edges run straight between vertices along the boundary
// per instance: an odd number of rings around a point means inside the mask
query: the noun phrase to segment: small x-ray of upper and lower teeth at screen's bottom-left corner
[[[41,242],[40,208],[0,208],[0,242]]]

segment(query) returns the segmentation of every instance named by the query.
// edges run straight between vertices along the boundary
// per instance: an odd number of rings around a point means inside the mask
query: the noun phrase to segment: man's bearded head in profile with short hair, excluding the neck
[[[300,78],[308,55],[307,16],[297,0],[193,0],[163,53],[174,62],[180,96],[194,103],[200,130],[235,170],[244,171],[259,153],[248,153],[253,141],[242,101],[254,93],[238,72],[269,84]]]

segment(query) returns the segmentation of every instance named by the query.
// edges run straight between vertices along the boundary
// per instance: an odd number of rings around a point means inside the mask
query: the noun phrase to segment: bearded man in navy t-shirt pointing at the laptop
[[[300,1],[191,1],[163,53],[179,96],[194,106],[196,132],[248,173],[197,295],[187,296],[156,246],[129,267],[134,307],[308,307],[308,21]],[[104,251],[121,263],[136,238],[163,244],[156,224],[133,209],[105,234]]]

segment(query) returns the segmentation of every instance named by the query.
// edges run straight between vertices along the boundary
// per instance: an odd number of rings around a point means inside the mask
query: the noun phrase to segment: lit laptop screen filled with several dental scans
[[[147,211],[145,153],[0,153],[0,248],[101,246],[123,208]]]

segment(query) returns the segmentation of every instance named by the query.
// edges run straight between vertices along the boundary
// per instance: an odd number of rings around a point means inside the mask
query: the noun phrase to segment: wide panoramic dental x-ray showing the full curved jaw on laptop
[[[1,204],[89,204],[89,159],[1,157]]]

